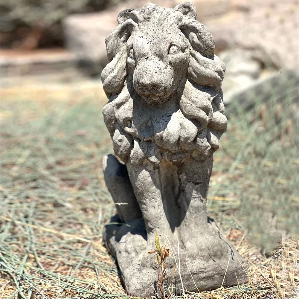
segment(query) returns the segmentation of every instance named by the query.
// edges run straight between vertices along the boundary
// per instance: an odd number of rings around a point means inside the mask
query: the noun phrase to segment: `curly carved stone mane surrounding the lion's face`
[[[147,4],[121,12],[118,27],[105,40],[110,62],[102,72],[102,82],[109,101],[103,116],[115,154],[124,163],[141,165],[147,159],[158,167],[163,157],[180,163],[190,155],[203,160],[219,148],[219,138],[227,127],[221,90],[225,65],[214,55],[210,31],[195,18],[196,9],[190,2],[174,9]],[[174,86],[166,102],[155,104],[146,102],[134,88],[137,60],[130,57],[127,44],[134,32],[153,40],[150,28],[163,26],[164,30],[170,28],[173,42],[172,28],[183,33],[188,65],[184,74],[180,68],[173,71],[174,79],[183,76],[182,88]]]

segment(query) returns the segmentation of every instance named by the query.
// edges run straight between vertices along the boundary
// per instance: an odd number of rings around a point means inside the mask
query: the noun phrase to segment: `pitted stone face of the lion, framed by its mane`
[[[160,27],[154,33],[133,32],[126,45],[133,87],[150,105],[165,103],[185,83],[190,55],[188,43],[172,22],[167,22],[168,28]]]

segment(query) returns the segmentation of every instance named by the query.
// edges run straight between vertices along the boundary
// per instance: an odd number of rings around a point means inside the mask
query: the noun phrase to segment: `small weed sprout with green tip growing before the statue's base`
[[[169,256],[169,249],[166,249],[166,242],[162,247],[160,247],[160,241],[158,234],[156,234],[155,239],[156,249],[154,251],[149,251],[149,254],[156,253],[156,263],[159,266],[158,272],[158,286],[161,291],[162,298],[164,298],[164,278],[166,277],[166,263],[164,260]],[[161,274],[161,278],[159,279]]]

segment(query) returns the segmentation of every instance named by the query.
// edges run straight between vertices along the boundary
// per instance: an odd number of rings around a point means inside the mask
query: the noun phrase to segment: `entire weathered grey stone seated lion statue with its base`
[[[147,4],[118,15],[106,38],[103,108],[115,155],[104,158],[106,185],[118,214],[103,238],[128,294],[159,293],[158,266],[148,254],[155,234],[178,258],[184,288],[215,289],[247,280],[243,258],[206,214],[213,152],[226,130],[221,84],[225,65],[214,55],[196,8]],[[167,258],[164,295],[175,259]],[[242,267],[243,266],[243,267]],[[190,272],[196,283],[194,286]],[[174,292],[181,293],[179,272]]]

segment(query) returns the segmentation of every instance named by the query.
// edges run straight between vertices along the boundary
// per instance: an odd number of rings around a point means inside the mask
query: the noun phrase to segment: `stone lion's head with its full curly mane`
[[[147,159],[157,167],[163,156],[179,163],[219,147],[227,126],[225,65],[214,55],[210,31],[195,18],[191,2],[174,9],[147,4],[122,11],[105,40],[103,116],[125,163]]]

